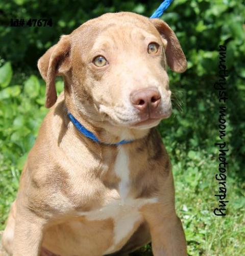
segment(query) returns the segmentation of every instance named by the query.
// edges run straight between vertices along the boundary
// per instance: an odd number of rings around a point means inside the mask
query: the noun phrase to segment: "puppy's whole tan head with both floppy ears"
[[[167,65],[186,69],[174,32],[161,20],[110,13],[62,36],[38,62],[47,82],[46,106],[56,101],[54,81],[91,120],[148,129],[171,114]]]

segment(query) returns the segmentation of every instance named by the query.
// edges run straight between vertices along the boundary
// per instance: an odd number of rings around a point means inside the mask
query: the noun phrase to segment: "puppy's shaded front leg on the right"
[[[157,203],[145,205],[142,214],[150,227],[154,256],[187,255],[184,230],[174,209]]]

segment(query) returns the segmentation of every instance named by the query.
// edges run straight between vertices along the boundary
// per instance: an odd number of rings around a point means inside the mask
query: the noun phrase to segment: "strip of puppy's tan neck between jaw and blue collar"
[[[65,97],[66,112],[71,113],[79,123],[104,144],[116,144],[122,140],[134,141],[149,134],[150,129],[131,129],[128,127],[114,126],[108,121],[91,120],[82,111],[78,110],[75,104],[72,103],[72,100],[67,99],[68,97]]]

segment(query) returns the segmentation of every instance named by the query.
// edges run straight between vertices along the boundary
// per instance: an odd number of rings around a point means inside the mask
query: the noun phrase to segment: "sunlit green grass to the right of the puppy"
[[[244,255],[244,198],[241,183],[228,178],[227,216],[217,217],[217,161],[200,150],[193,159],[183,154],[184,160],[174,165],[177,211],[183,221],[190,255]],[[192,165],[192,166],[191,166]],[[241,202],[243,200],[243,203]],[[243,207],[243,209],[242,209]]]

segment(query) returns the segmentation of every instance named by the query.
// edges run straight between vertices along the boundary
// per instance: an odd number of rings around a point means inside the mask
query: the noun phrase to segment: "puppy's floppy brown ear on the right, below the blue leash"
[[[150,19],[160,35],[167,40],[166,58],[167,65],[175,72],[184,72],[187,68],[185,55],[181,49],[180,42],[174,31],[158,18]]]

